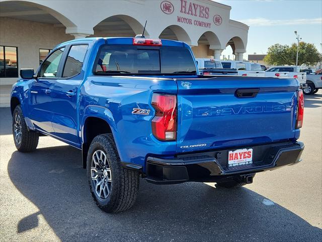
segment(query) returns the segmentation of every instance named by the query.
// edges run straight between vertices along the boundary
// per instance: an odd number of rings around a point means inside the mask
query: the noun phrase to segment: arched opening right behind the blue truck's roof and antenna
[[[127,15],[116,15],[104,19],[94,27],[94,35],[100,37],[134,37],[142,34],[144,25]],[[149,37],[147,29],[144,36]]]

